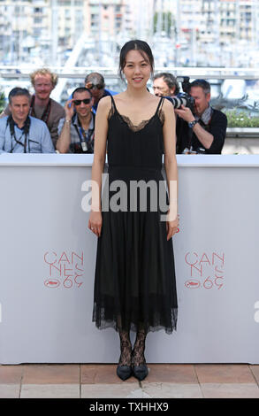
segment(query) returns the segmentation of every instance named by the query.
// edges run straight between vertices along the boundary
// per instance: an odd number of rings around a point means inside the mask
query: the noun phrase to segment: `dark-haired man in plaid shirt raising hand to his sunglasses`
[[[58,124],[59,153],[94,153],[95,114],[91,91],[80,87],[65,104],[65,118]]]

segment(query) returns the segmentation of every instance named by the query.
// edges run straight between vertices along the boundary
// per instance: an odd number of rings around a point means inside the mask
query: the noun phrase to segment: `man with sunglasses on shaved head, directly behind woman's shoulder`
[[[103,96],[115,96],[117,92],[105,89],[104,78],[101,73],[88,73],[85,79],[85,87],[91,90],[94,98],[92,112],[96,112],[97,106]]]

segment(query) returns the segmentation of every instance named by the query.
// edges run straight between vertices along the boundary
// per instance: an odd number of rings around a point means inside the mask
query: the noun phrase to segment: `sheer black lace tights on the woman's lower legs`
[[[144,356],[146,336],[146,332],[142,329],[137,332],[132,351],[129,333],[126,331],[119,331],[120,358],[118,364],[120,366],[130,366],[131,364],[134,366],[141,366],[141,364],[146,363]]]

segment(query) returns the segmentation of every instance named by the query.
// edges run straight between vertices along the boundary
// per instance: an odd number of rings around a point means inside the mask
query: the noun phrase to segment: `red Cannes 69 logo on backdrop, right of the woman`
[[[189,277],[187,289],[221,289],[224,286],[225,253],[188,251],[185,264]]]

